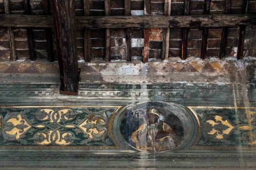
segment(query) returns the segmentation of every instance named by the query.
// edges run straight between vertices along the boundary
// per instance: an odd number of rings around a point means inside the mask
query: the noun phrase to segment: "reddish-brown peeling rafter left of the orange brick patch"
[[[150,14],[150,0],[144,0],[144,16]],[[143,63],[148,62],[150,54],[150,29],[144,29]]]

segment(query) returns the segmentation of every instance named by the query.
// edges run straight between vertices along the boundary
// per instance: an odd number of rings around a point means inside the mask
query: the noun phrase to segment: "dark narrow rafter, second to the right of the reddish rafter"
[[[189,15],[189,0],[184,1],[184,15]],[[187,37],[188,28],[182,29],[181,59],[187,58]]]

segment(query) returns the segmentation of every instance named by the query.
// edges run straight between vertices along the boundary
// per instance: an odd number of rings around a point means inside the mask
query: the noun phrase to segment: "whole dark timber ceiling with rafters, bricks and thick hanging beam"
[[[78,60],[255,57],[255,12],[249,0],[0,0],[0,59],[58,60],[60,91],[76,93]]]

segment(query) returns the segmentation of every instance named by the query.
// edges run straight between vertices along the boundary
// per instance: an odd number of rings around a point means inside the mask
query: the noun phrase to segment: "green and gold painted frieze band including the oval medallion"
[[[0,108],[0,148],[54,147],[179,152],[256,145],[256,108],[167,102],[126,106]]]

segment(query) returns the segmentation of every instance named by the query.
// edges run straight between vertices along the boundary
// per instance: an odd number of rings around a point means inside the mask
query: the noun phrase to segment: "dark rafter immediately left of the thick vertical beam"
[[[44,8],[44,12],[46,15],[51,15],[51,4],[49,0],[43,0],[42,6]],[[54,62],[54,52],[53,52],[53,36],[52,36],[52,29],[46,28],[46,43],[47,43],[47,56],[50,62]]]

